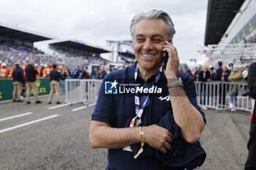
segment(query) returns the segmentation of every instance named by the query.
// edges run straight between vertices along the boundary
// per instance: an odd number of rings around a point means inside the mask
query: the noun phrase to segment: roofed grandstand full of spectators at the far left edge
[[[18,26],[0,23],[0,61],[7,63],[8,68],[16,62],[23,64],[33,55],[44,54],[41,50],[33,47],[34,42],[54,38]]]

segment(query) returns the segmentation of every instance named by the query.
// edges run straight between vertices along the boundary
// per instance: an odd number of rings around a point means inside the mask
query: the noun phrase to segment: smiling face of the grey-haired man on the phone
[[[133,35],[135,58],[143,69],[154,71],[162,65],[162,46],[168,39],[164,20],[140,20]]]

